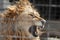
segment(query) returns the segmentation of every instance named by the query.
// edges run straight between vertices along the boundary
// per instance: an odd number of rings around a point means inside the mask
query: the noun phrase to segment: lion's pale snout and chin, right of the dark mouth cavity
[[[35,36],[41,35],[44,32],[44,26],[46,24],[45,19],[40,19],[39,21],[35,21]]]

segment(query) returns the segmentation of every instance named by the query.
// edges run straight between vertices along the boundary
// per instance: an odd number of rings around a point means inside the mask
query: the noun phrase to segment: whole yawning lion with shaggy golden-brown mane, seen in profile
[[[28,0],[20,0],[0,14],[2,40],[40,40],[46,20]]]

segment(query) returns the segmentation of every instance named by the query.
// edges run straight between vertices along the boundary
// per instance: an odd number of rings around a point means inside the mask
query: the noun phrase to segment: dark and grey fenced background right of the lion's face
[[[48,32],[45,35],[60,38],[60,0],[34,0],[33,3],[41,16],[48,20],[48,26],[46,27]]]

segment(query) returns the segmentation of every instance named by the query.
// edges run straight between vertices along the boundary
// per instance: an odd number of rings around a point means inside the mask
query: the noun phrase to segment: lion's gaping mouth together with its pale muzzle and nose
[[[44,32],[44,28],[45,28],[45,23],[44,21],[35,21],[34,22],[35,25],[31,26],[29,28],[29,32],[34,36],[34,37],[37,37],[39,36],[40,34],[42,34],[42,32]]]

